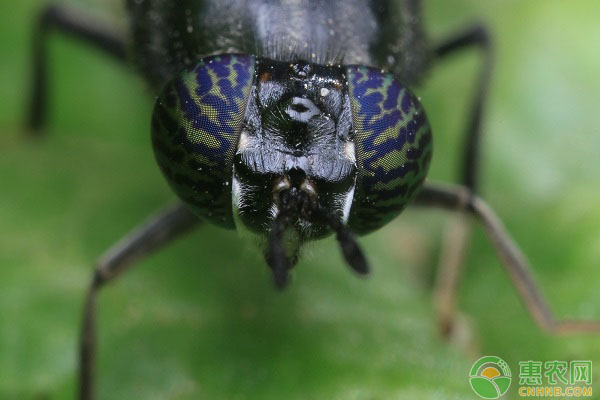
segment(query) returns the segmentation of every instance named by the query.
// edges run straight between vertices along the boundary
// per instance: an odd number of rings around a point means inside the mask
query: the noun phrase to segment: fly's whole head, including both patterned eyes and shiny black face
[[[392,75],[232,54],[166,86],[153,144],[199,216],[264,238],[285,214],[277,229],[294,238],[293,255],[341,225],[366,233],[386,224],[431,158],[422,107]]]

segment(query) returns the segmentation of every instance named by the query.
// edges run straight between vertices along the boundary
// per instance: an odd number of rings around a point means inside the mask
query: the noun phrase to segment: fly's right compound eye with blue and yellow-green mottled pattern
[[[419,100],[393,75],[346,68],[358,175],[348,224],[364,234],[396,217],[423,184],[431,128]]]

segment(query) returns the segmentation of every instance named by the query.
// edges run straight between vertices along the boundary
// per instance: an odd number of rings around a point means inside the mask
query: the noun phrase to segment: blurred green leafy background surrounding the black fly
[[[80,3],[101,16],[120,7]],[[150,149],[143,82],[61,35],[49,45],[48,136],[26,137],[42,4],[0,3],[0,399],[73,397],[92,263],[173,197]],[[557,315],[600,318],[600,3],[430,0],[426,17],[432,38],[475,19],[491,28],[483,193]],[[432,179],[457,174],[478,66],[465,53],[417,90],[435,132]],[[438,336],[431,285],[447,221],[409,210],[363,238],[366,280],[331,239],[317,243],[284,293],[235,232],[185,237],[101,293],[99,398],[475,399],[467,376],[483,354],[513,376],[520,360],[590,359],[600,382],[600,336],[541,332],[479,228],[460,292],[469,350]]]

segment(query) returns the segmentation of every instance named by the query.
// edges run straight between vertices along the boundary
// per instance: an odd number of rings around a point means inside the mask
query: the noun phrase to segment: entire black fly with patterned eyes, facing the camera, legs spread
[[[98,262],[84,313],[80,398],[94,394],[98,290],[202,221],[252,232],[283,288],[304,242],[335,234],[349,266],[365,274],[355,234],[382,227],[409,204],[459,211],[481,222],[542,328],[600,330],[597,322],[554,318],[521,251],[477,194],[492,67],[483,26],[432,42],[419,0],[130,0],[127,7],[127,39],[61,5],[43,11],[34,38],[30,125],[44,122],[50,28],[129,60],[158,96],[154,153],[181,200]],[[483,65],[461,185],[434,184],[425,180],[432,128],[410,88],[434,63],[465,48],[478,48]],[[455,275],[446,273],[449,281],[441,284],[443,304],[454,297]],[[451,327],[451,311],[441,308],[443,330]]]

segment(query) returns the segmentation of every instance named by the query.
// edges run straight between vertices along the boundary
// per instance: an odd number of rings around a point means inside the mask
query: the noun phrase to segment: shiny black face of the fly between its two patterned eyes
[[[301,196],[347,221],[356,157],[342,69],[261,59],[256,75],[234,157],[233,207],[239,221],[268,233],[281,208],[290,207],[283,204],[286,196]],[[299,242],[331,232],[308,204],[299,201],[295,207],[289,210],[289,228]]]

